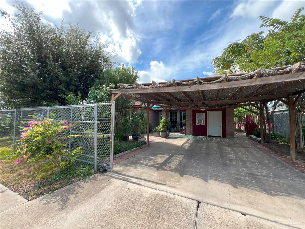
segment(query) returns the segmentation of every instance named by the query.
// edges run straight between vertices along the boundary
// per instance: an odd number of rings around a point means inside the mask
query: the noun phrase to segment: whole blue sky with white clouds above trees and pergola
[[[266,31],[260,15],[289,20],[305,1],[38,1],[43,21],[79,23],[100,33],[117,53],[115,61],[134,64],[139,82],[213,75],[211,60],[229,42]],[[13,1],[1,7],[13,13]],[[0,20],[5,24],[5,20]]]

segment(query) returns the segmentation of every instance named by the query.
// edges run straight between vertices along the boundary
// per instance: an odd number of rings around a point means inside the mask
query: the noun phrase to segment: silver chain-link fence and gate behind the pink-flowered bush
[[[73,151],[82,147],[82,154],[77,158],[81,163],[98,165],[112,169],[114,143],[115,102],[104,104],[84,104],[58,107],[34,107],[18,110],[0,111],[0,145],[15,147],[22,129],[27,122],[52,118],[56,122],[71,124],[70,133],[77,134],[75,139],[59,137],[65,141],[66,149]]]

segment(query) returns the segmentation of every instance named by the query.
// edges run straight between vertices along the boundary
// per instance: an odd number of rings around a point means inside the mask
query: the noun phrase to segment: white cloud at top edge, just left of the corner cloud
[[[233,13],[231,14],[231,17],[258,17],[264,12],[269,9],[272,5],[274,5],[275,1],[246,1],[239,3],[235,9],[233,10]]]

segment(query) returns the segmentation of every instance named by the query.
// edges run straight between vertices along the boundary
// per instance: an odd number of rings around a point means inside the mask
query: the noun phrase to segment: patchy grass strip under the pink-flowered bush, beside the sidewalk
[[[51,193],[66,185],[91,176],[92,165],[74,162],[60,169],[54,160],[44,159],[37,162],[22,162],[17,164],[13,159],[7,159],[11,148],[0,148],[1,184],[23,196],[33,200]]]

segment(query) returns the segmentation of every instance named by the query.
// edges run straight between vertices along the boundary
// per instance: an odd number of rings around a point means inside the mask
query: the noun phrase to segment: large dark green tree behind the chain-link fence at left
[[[99,37],[78,25],[51,27],[37,12],[17,3],[20,13],[0,9],[10,30],[1,30],[1,106],[63,104],[59,94],[84,99],[96,79],[112,68],[113,55]]]

